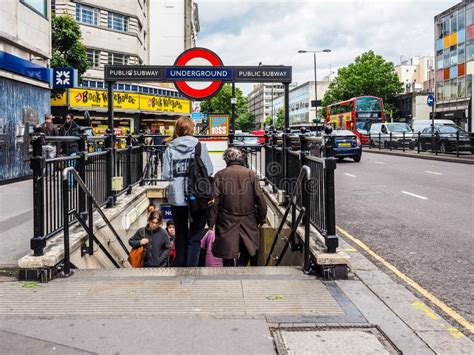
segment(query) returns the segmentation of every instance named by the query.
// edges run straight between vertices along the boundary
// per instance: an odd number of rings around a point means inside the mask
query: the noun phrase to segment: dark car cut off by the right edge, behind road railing
[[[433,149],[433,128],[426,127],[420,133],[420,147],[422,150]],[[435,150],[441,153],[459,151],[474,153],[469,133],[457,126],[435,126]],[[459,134],[459,139],[458,139]]]

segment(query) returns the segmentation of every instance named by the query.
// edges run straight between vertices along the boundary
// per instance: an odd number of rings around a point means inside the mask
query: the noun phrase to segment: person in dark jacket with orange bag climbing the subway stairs
[[[168,263],[171,245],[168,234],[160,227],[162,222],[160,211],[150,213],[147,226],[139,228],[128,241],[132,248],[145,247],[144,267],[163,267]]]

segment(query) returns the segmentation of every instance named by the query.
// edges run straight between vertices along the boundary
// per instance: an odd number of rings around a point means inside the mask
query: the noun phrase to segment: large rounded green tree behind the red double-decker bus
[[[387,62],[373,51],[355,58],[354,63],[339,69],[336,78],[329,84],[322,106],[350,99],[355,96],[381,97],[385,112],[395,111],[394,97],[403,90],[392,62]],[[322,114],[325,115],[323,109]]]

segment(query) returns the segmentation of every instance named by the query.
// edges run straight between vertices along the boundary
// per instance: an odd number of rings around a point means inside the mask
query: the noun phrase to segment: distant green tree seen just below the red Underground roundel
[[[232,97],[232,86],[230,84],[225,84],[222,89],[213,97],[208,100],[201,101],[201,112],[207,115],[213,114],[226,114],[231,115],[231,104],[230,99]],[[237,103],[235,104],[235,128],[238,125],[248,126],[250,117],[248,112],[248,100],[242,93],[242,90],[239,88],[235,88],[235,97],[237,98]],[[253,118],[252,127],[255,125],[255,117]],[[240,122],[240,123],[239,123]],[[208,129],[207,120],[203,121],[203,131]]]

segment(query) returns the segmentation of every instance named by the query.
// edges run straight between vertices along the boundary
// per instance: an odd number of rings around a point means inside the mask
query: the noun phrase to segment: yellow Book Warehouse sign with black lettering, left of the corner
[[[138,110],[139,95],[128,92],[114,93],[114,108]],[[108,93],[105,90],[69,89],[69,106],[107,108]]]

